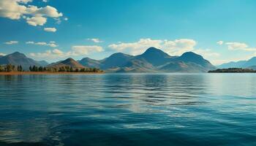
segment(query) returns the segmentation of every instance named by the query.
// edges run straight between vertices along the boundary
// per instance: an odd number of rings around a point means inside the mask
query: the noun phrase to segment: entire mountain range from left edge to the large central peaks
[[[69,66],[73,69],[90,67],[99,68],[105,72],[208,72],[216,69],[203,56],[196,53],[187,52],[181,56],[170,56],[155,47],[148,48],[140,55],[114,53],[102,60],[82,58],[80,61],[75,61],[72,58],[67,58],[53,64],[48,64],[46,61],[34,61],[23,53],[16,52],[1,56],[0,65],[3,64],[22,65],[23,69],[29,69],[29,66],[46,66],[48,68]]]

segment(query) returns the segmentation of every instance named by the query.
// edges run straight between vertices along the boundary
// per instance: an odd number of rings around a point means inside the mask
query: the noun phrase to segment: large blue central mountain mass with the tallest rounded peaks
[[[136,56],[115,53],[100,61],[83,58],[79,62],[90,67],[99,67],[106,72],[208,72],[216,69],[196,53],[170,56],[155,47],[150,47],[145,53]]]

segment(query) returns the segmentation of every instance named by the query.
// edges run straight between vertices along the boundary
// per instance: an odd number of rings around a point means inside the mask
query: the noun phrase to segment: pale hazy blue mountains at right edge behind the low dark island
[[[231,61],[226,64],[217,66],[219,69],[227,68],[247,68],[247,69],[256,69],[256,57],[250,58],[248,61]]]

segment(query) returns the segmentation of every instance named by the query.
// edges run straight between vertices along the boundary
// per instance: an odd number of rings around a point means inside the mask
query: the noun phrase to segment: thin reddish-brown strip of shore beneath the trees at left
[[[44,74],[104,74],[104,72],[0,72],[0,75],[44,75]]]

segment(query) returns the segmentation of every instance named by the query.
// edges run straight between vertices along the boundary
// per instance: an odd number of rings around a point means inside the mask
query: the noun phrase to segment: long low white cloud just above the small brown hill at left
[[[71,50],[64,52],[59,49],[46,50],[44,53],[30,53],[29,55],[33,58],[40,59],[55,59],[55,58],[67,58],[79,55],[88,55],[89,53],[102,52],[103,49],[100,46],[86,46],[86,45],[75,45],[72,46]]]

